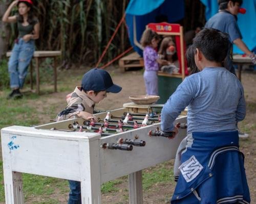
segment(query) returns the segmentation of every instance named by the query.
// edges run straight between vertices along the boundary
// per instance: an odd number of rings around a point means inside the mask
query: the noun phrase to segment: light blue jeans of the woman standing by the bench
[[[34,50],[34,40],[25,42],[22,38],[19,38],[17,42],[15,42],[8,62],[10,86],[12,89],[23,88]]]

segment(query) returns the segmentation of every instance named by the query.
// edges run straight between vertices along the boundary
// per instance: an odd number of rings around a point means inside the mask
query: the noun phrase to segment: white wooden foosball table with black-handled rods
[[[111,111],[121,115],[129,109]],[[96,114],[104,118],[106,113]],[[82,204],[101,203],[101,184],[123,175],[129,175],[131,204],[142,204],[142,169],[175,158],[186,129],[180,129],[172,140],[149,137],[160,123],[140,127],[123,133],[101,137],[98,133],[65,132],[77,121],[70,119],[35,127],[10,126],[1,130],[5,182],[5,203],[23,204],[22,173],[52,176],[81,182]],[[186,122],[180,116],[176,122]],[[50,130],[53,127],[58,130]],[[132,151],[103,149],[103,143],[117,143],[118,139],[144,140],[145,146],[134,146]]]

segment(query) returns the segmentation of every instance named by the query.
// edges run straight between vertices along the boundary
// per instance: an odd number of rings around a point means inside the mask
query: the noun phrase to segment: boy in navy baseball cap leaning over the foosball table
[[[56,121],[81,117],[84,120],[97,122],[93,115],[95,104],[103,100],[108,92],[118,93],[121,87],[113,84],[110,74],[98,68],[93,68],[82,77],[81,87],[76,87],[74,92],[67,95],[67,107],[61,111]],[[81,204],[80,182],[69,181],[70,193],[68,204]]]

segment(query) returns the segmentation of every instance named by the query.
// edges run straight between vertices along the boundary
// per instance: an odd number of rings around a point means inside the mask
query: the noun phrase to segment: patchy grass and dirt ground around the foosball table
[[[86,69],[70,69],[58,72],[58,92],[53,93],[51,72],[43,73],[40,85],[41,94],[25,92],[20,100],[7,100],[10,90],[0,91],[0,129],[11,125],[37,125],[45,124],[54,119],[56,114],[66,106],[66,95],[79,85],[82,74]],[[122,107],[129,102],[129,95],[144,94],[142,71],[128,71],[120,73],[117,69],[111,69],[111,74],[116,84],[123,87],[120,94],[109,94],[97,110],[112,110]],[[250,134],[248,139],[241,141],[241,150],[245,154],[245,167],[250,186],[252,202],[256,203],[255,181],[255,149],[256,149],[256,85],[255,73],[243,73],[242,82],[245,87],[247,101],[246,119],[239,125],[242,131]],[[29,84],[25,90],[28,90]],[[2,154],[1,154],[2,156]],[[172,172],[173,161],[165,162],[157,166],[143,170],[143,199],[144,203],[166,203],[172,196],[175,184]],[[67,203],[68,182],[52,177],[24,174],[25,203]],[[3,164],[0,160],[0,203],[5,203]],[[127,176],[102,185],[102,203],[129,203],[127,190]],[[254,200],[254,201],[253,201]]]

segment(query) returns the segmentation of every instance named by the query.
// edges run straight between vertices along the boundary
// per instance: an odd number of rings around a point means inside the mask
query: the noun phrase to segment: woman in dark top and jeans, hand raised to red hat
[[[11,10],[18,6],[18,14],[10,16]],[[29,63],[35,50],[34,40],[39,38],[39,22],[32,12],[31,0],[15,0],[6,10],[3,22],[17,22],[18,38],[15,40],[8,63],[12,92],[8,98],[21,98],[19,89],[23,88]]]

